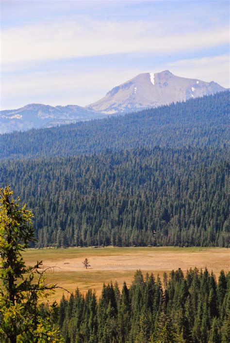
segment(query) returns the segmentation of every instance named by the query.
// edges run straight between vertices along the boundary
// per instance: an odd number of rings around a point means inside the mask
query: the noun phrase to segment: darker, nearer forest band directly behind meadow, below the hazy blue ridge
[[[211,148],[2,161],[39,247],[229,247],[229,162]]]

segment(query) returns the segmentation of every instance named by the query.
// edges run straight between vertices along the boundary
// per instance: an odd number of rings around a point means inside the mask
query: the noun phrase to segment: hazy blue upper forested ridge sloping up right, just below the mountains
[[[48,129],[0,135],[0,158],[74,156],[140,147],[225,147],[229,91],[186,102]]]

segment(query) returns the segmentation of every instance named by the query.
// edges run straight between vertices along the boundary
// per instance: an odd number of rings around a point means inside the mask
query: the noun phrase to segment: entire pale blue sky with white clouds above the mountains
[[[144,72],[229,87],[228,1],[1,1],[0,108],[88,105]]]

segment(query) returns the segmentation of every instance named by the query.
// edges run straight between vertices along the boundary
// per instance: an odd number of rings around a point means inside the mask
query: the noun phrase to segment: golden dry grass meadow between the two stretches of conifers
[[[68,248],[68,249],[28,249],[23,253],[27,265],[43,261],[49,282],[57,283],[70,292],[78,287],[83,293],[95,289],[100,295],[103,282],[117,281],[122,287],[123,281],[131,284],[134,272],[162,276],[164,271],[181,268],[205,268],[218,276],[221,269],[230,270],[230,250],[225,248]],[[90,267],[83,267],[88,258]],[[57,290],[50,296],[59,300],[63,290]]]

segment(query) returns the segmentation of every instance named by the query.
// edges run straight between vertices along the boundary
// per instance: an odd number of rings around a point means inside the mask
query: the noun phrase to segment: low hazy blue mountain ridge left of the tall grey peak
[[[52,107],[29,104],[20,109],[0,111],[0,133],[70,124],[101,117],[103,115],[100,113],[77,105]]]

